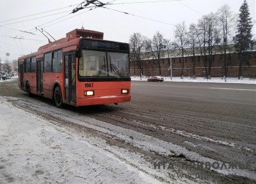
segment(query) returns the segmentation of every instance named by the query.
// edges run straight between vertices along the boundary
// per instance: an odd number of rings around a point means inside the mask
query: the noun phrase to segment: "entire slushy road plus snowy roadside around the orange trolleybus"
[[[239,101],[206,95],[237,85],[169,84],[134,82],[125,105],[58,109],[16,81],[0,83],[0,183],[253,183],[255,115],[244,107],[255,107],[254,85],[238,85],[249,89]],[[167,94],[157,103],[148,94],[155,87]],[[203,168],[183,165],[198,161]],[[249,166],[230,168],[236,161]]]

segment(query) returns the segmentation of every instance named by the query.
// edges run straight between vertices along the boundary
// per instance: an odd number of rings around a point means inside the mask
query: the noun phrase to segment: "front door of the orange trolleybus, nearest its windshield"
[[[65,101],[75,104],[75,55],[65,55]]]

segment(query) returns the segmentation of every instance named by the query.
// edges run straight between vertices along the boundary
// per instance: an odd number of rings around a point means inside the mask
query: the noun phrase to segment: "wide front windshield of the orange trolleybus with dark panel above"
[[[130,80],[129,45],[81,39],[78,80]]]

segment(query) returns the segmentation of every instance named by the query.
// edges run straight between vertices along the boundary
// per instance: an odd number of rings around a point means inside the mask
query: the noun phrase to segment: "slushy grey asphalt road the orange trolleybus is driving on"
[[[89,127],[86,134],[100,134],[108,144],[140,153],[151,162],[249,163],[246,170],[214,170],[215,177],[218,183],[256,182],[256,85],[133,81],[131,102],[65,110],[51,108],[53,102],[43,98],[27,98],[15,82],[0,83],[0,95],[19,97],[9,100],[59,124]],[[61,120],[67,113],[73,120]],[[92,127],[91,122],[80,122],[81,117],[107,124]]]

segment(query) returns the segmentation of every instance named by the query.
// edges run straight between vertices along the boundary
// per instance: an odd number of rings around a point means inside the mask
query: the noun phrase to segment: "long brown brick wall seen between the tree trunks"
[[[249,60],[250,66],[243,66],[243,77],[256,77],[256,51],[252,53],[252,58]],[[238,53],[231,53],[228,55],[232,64],[230,64],[227,71],[228,77],[238,76]],[[173,77],[181,76],[182,69],[182,58],[173,57],[171,58],[173,66]],[[142,74],[145,76],[159,75],[159,67],[157,61],[153,60],[143,60],[142,64]],[[170,76],[170,61],[168,58],[161,58],[160,60],[162,76]],[[193,69],[193,57],[184,57],[184,77],[191,77],[194,75]],[[130,74],[140,75],[140,69],[138,68],[138,63],[131,61],[130,63]],[[223,77],[225,74],[223,66],[223,55],[214,55],[214,61],[211,65],[211,77]],[[195,76],[205,77],[205,66],[203,65],[203,56],[195,56]]]

